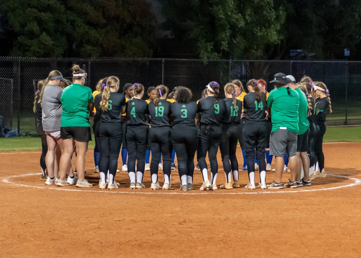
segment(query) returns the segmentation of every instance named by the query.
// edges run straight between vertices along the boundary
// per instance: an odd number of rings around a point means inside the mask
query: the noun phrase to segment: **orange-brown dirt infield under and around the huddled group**
[[[344,177],[315,179],[311,187],[204,193],[195,171],[184,194],[177,171],[170,191],[151,191],[149,172],[146,189],[130,190],[121,172],[120,189],[99,190],[92,151],[90,192],[49,190],[56,186],[27,175],[39,173],[40,153],[0,154],[0,257],[360,257],[360,148],[325,144],[326,172]],[[220,160],[218,185],[225,180]],[[162,185],[162,171],[159,178]],[[273,179],[268,173],[266,181]],[[240,172],[242,186],[247,180]]]

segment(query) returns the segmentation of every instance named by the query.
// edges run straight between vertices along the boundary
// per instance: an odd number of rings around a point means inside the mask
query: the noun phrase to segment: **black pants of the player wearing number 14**
[[[267,121],[247,120],[243,128],[243,139],[248,174],[255,172],[255,148],[260,173],[266,171]]]

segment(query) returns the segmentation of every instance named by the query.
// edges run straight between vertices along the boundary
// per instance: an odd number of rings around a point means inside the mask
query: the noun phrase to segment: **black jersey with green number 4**
[[[127,125],[148,125],[145,121],[148,116],[147,106],[147,102],[142,99],[128,100],[125,108]]]

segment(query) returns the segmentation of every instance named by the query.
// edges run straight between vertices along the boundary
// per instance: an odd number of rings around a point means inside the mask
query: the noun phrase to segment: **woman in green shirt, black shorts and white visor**
[[[74,139],[77,149],[75,166],[78,181],[76,186],[91,187],[93,185],[84,179],[84,171],[88,142],[91,141],[89,116],[93,115],[94,98],[91,89],[84,86],[87,77],[86,71],[79,65],[73,65],[71,70],[73,71],[73,84],[64,89],[60,99],[63,107],[60,137],[64,143],[64,151],[60,158],[60,179],[57,185],[66,185],[64,180],[66,172],[69,171],[70,157],[74,152]]]

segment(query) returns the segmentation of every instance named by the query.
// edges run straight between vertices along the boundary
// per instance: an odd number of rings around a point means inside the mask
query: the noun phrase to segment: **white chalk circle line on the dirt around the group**
[[[200,194],[273,194],[273,193],[318,192],[318,191],[336,190],[336,189],[352,187],[352,186],[356,186],[356,185],[361,184],[361,179],[357,179],[355,177],[327,174],[327,176],[350,179],[350,180],[353,180],[354,182],[351,183],[351,184],[347,184],[347,185],[340,185],[340,186],[334,186],[334,187],[329,187],[329,188],[305,189],[305,190],[288,190],[288,191],[284,191],[284,190],[267,191],[267,190],[265,190],[265,191],[262,191],[262,192],[244,192],[244,193],[226,193],[226,192],[222,193],[222,192],[218,192],[218,191],[225,191],[225,190],[217,190],[217,192],[207,191],[207,192],[198,192],[198,193],[180,193],[180,192],[163,192],[163,191],[160,191],[160,192],[124,192],[124,191],[117,191],[117,190],[114,190],[114,191],[108,191],[108,190],[104,190],[104,191],[78,190],[78,189],[69,189],[69,188],[65,188],[65,187],[52,188],[52,187],[45,187],[45,186],[32,186],[32,185],[25,185],[25,184],[17,184],[17,183],[9,181],[10,178],[35,176],[35,175],[41,175],[41,174],[40,173],[35,173],[35,174],[23,174],[23,175],[9,176],[8,178],[3,179],[2,181],[4,183],[13,184],[13,185],[16,185],[16,186],[31,187],[31,188],[38,188],[38,189],[59,190],[59,191],[71,191],[71,192],[114,193],[114,194],[116,194],[116,193],[118,193],[118,194],[119,193],[121,193],[121,194],[186,194],[186,195],[187,194],[188,195],[200,195]],[[68,187],[72,187],[72,186],[68,186]]]

